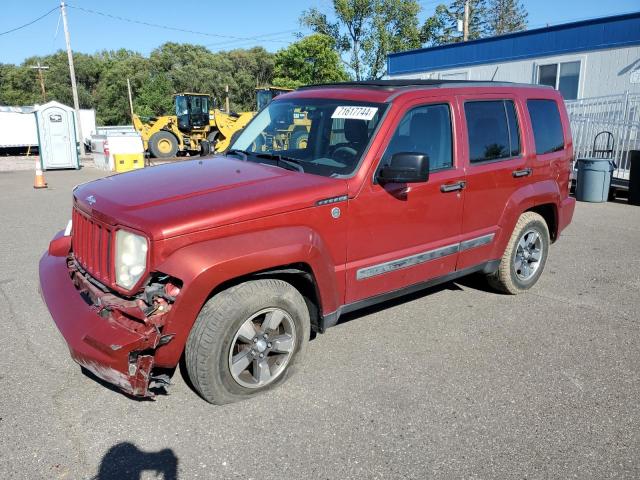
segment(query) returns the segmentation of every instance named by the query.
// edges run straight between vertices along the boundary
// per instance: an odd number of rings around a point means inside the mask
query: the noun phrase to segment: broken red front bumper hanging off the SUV
[[[171,339],[161,334],[164,314],[135,318],[135,301],[97,289],[69,260],[67,238],[59,234],[42,256],[40,291],[72,358],[130,395],[153,397],[154,352]]]

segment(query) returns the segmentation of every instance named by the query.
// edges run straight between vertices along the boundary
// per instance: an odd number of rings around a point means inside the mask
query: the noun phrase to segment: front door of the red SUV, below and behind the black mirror
[[[379,164],[394,153],[426,153],[429,179],[386,185],[371,179],[349,202],[346,304],[455,271],[465,174],[453,141],[454,105],[415,102],[403,112]]]

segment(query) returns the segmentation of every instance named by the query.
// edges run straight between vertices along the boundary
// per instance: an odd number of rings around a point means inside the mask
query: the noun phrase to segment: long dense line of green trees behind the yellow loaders
[[[47,100],[73,105],[66,52],[31,57],[20,65],[0,64],[0,104],[33,105],[42,102],[36,72],[44,72]],[[102,51],[92,55],[74,52],[81,108],[95,108],[102,125],[130,123],[127,78],[131,81],[134,110],[143,116],[173,112],[174,93],[211,94],[224,102],[229,86],[231,107],[255,108],[255,88],[270,83],[275,55],[263,48],[213,53],[199,45],[165,43],[149,57],[130,50]]]

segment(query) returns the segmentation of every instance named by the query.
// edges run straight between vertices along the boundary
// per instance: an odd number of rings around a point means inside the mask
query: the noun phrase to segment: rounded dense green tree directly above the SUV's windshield
[[[273,84],[297,88],[313,83],[348,80],[334,40],[314,33],[276,53]]]

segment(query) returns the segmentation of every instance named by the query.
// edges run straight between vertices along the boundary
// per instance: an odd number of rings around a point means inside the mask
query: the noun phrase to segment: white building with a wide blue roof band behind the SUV
[[[640,93],[640,12],[395,53],[387,74],[538,83],[565,100]]]

